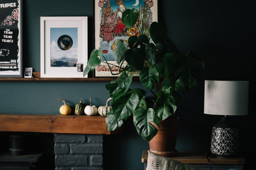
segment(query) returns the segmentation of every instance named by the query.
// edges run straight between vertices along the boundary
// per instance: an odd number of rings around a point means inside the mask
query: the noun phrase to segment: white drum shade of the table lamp
[[[204,84],[204,114],[248,115],[248,81],[212,81]]]

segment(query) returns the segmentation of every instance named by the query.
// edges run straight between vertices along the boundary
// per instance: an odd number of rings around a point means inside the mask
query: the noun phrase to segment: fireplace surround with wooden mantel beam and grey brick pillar
[[[103,135],[110,132],[103,116],[0,114],[2,132],[54,134],[55,170],[102,170]]]

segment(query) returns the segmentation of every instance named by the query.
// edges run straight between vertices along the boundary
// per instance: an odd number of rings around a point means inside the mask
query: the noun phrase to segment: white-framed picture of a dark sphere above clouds
[[[76,63],[87,65],[87,17],[41,17],[40,24],[41,78],[87,78],[76,67]],[[62,36],[65,39],[59,41]],[[67,37],[68,48],[63,46]]]

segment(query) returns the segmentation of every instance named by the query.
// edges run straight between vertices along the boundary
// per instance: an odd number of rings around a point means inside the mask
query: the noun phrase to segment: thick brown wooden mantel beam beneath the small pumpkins
[[[0,114],[2,132],[116,134],[108,131],[105,116]]]

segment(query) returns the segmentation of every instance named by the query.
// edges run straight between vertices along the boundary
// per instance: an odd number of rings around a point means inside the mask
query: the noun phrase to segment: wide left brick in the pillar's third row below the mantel
[[[87,157],[83,155],[55,155],[56,166],[86,166]]]

